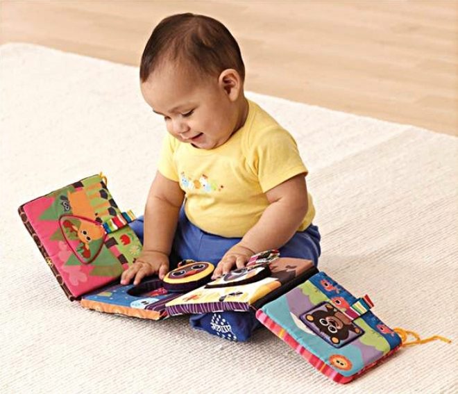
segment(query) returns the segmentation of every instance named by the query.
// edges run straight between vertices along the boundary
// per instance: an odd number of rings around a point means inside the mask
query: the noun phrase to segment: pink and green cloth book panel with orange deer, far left
[[[103,175],[71,183],[19,207],[19,215],[65,295],[73,301],[121,276],[142,244]]]

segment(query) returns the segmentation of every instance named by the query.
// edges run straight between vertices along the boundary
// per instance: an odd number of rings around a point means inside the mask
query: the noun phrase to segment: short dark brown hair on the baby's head
[[[186,65],[198,77],[219,76],[232,68],[245,80],[239,44],[226,26],[205,15],[185,13],[162,19],[146,42],[140,80],[145,82],[167,60]]]

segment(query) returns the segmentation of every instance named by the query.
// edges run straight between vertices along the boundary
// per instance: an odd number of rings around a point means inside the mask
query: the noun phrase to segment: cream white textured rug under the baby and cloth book
[[[119,206],[142,213],[164,124],[135,67],[28,44],[3,45],[0,58],[1,393],[456,392],[457,138],[247,94],[291,131],[309,167],[319,268],[371,295],[387,325],[454,340],[404,348],[341,386],[266,329],[230,343],[185,317],[121,318],[67,301],[17,207],[103,171]]]

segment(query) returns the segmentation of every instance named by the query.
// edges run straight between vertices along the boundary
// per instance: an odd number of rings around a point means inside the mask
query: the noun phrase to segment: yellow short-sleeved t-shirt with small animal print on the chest
[[[171,134],[164,138],[158,170],[180,183],[190,222],[208,233],[243,237],[269,201],[264,194],[297,174],[307,174],[296,141],[273,117],[248,100],[244,126],[215,149],[198,149]],[[297,231],[315,215],[312,197]]]

